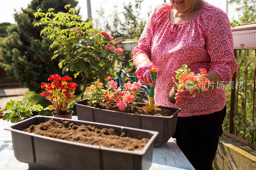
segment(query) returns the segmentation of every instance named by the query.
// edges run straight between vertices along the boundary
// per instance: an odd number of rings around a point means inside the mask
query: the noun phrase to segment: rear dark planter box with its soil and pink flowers
[[[135,103],[140,95],[140,81],[127,82],[124,89],[117,89],[113,80],[106,86],[108,89],[104,90],[103,83],[92,82],[85,91],[85,99],[74,102],[78,120],[158,131],[156,147],[172,137],[180,109],[159,106],[147,114],[146,104]]]

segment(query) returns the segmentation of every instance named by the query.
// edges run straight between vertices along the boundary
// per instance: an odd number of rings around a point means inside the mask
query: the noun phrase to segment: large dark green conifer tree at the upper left
[[[0,66],[7,72],[7,76],[18,80],[30,90],[39,92],[41,83],[48,79],[50,74],[61,74],[58,61],[52,60],[54,50],[49,51],[51,41],[47,36],[40,36],[43,26],[34,27],[40,19],[33,15],[36,9],[47,12],[48,8],[67,12],[66,4],[72,7],[77,5],[75,0],[32,0],[26,9],[14,14],[16,25],[8,26],[8,37],[0,42],[4,63]]]

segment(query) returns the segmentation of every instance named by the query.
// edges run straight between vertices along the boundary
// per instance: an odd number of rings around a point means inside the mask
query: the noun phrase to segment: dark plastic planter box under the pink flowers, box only
[[[126,126],[137,129],[153,130],[159,132],[155,140],[155,147],[166,143],[174,134],[179,108],[163,107],[173,112],[171,116],[137,115],[124,112],[115,112],[84,105],[87,99],[74,102],[76,105],[78,120],[107,123],[119,126]],[[143,107],[147,104],[136,103]]]

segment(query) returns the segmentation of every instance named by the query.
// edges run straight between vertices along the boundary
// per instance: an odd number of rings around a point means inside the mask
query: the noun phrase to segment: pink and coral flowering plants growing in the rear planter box
[[[124,90],[117,88],[117,82],[110,80],[109,84],[106,85],[107,90],[103,89],[103,83],[96,81],[92,82],[92,85],[86,87],[84,92],[84,98],[88,99],[88,102],[92,106],[97,106],[100,102],[104,101],[115,101],[117,107],[120,110],[129,107],[135,107],[135,100],[140,94],[141,82],[128,81],[124,84]]]

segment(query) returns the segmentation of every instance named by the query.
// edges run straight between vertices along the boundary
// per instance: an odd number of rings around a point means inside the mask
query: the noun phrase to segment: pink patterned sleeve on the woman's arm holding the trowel
[[[155,32],[154,20],[156,18],[156,9],[151,12],[148,17],[147,23],[141,34],[140,40],[138,41],[138,46],[132,50],[133,61],[139,54],[146,54],[151,58],[151,41]]]

